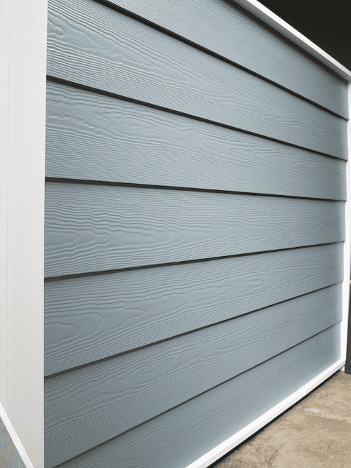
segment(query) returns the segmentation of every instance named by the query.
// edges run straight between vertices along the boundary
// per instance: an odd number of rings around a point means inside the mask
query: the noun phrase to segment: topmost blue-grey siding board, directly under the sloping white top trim
[[[346,82],[232,1],[110,1],[348,118]]]

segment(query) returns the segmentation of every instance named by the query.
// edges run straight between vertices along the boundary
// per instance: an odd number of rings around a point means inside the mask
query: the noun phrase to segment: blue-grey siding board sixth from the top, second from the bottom
[[[341,319],[336,285],[53,376],[45,383],[46,445],[54,452],[65,447],[67,456],[78,455]]]

